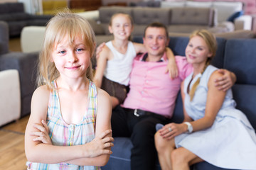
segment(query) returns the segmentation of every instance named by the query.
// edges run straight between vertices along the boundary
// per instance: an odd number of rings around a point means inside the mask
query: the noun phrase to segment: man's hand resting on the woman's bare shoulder
[[[235,74],[229,72],[227,69],[218,69],[218,72],[223,74],[223,76],[214,80],[215,86],[217,86],[220,91],[227,91],[235,84]]]

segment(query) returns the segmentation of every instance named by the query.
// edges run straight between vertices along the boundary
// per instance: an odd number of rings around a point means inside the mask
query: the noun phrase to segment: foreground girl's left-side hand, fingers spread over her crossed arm
[[[45,120],[41,121],[43,125],[41,124],[34,124],[33,127],[40,130],[40,132],[31,132],[30,135],[31,136],[36,136],[35,138],[33,138],[33,141],[40,141],[43,142],[44,144],[48,144],[48,145],[53,145],[50,137],[49,137],[49,128],[48,125],[46,124]]]

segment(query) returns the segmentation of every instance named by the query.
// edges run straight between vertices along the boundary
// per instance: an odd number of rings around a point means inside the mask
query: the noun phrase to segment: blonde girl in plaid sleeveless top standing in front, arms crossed
[[[100,169],[112,153],[110,96],[92,83],[95,34],[68,11],[46,26],[25,132],[28,169]]]

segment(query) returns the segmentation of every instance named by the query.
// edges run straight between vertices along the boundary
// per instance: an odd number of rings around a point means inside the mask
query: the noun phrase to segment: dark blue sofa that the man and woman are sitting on
[[[233,96],[237,108],[243,111],[256,129],[256,39],[230,39],[218,38],[218,51],[212,62],[219,68],[234,72],[237,81],[233,86]],[[135,42],[142,42],[142,38],[134,38]],[[187,37],[171,37],[169,47],[174,55],[185,55],[188,44]],[[182,100],[178,94],[176,108],[172,120],[181,123],[183,120]],[[241,144],[242,145],[242,144]],[[103,170],[129,170],[132,142],[127,137],[114,137],[113,154]],[[210,153],[209,153],[210,154]],[[158,161],[157,161],[158,162]],[[156,169],[161,169],[156,163]],[[191,166],[194,170],[221,170],[221,168],[201,162]]]

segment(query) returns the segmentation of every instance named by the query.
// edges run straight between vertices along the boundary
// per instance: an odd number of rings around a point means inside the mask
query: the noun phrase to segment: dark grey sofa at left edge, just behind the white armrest
[[[17,69],[21,86],[21,117],[31,111],[31,96],[36,88],[38,52],[10,52],[8,24],[0,21],[0,71]],[[1,82],[4,83],[4,82]]]

